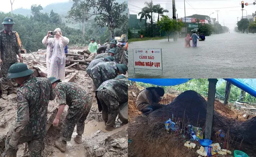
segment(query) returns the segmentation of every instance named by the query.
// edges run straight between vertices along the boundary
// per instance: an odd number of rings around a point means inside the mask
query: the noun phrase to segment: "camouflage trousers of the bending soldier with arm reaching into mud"
[[[76,125],[76,133],[83,134],[84,122],[91,110],[92,101],[90,101],[86,107],[78,107],[79,105],[73,105],[68,108],[67,117],[62,132],[61,139],[64,141],[70,141]]]

